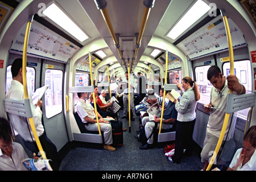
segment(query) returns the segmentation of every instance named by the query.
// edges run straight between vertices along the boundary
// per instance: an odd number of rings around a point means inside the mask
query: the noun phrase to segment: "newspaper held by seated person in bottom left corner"
[[[49,159],[23,159],[20,162],[28,171],[52,171]]]

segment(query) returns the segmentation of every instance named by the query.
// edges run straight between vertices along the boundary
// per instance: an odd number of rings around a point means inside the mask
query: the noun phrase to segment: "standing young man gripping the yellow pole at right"
[[[208,69],[207,79],[210,81],[213,87],[210,91],[210,103],[207,105],[208,107],[204,107],[204,110],[207,113],[209,111],[211,111],[211,113],[207,125],[204,147],[201,151],[201,162],[204,163],[203,170],[207,169],[209,158],[211,157],[210,154],[212,154],[212,151],[215,150],[218,143],[218,138],[220,138],[221,129],[226,114],[225,109],[229,89],[237,94],[245,93],[245,86],[240,84],[236,76],[229,75],[225,78],[225,76],[222,75],[220,68],[218,68],[216,65],[213,65]],[[213,109],[210,109],[212,106]],[[226,140],[229,140],[229,136],[226,136],[228,134],[229,126],[230,120],[224,135],[224,139],[226,138]]]

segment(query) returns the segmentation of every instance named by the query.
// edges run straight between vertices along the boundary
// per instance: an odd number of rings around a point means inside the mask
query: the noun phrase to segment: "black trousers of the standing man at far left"
[[[47,137],[46,133],[44,132],[43,135],[39,137],[40,143],[44,152],[46,153],[47,159],[51,159],[49,164],[51,165],[53,171],[58,171],[61,163],[61,159],[59,154],[57,153],[57,148],[55,144],[51,142],[51,140]],[[36,142],[29,142],[23,139],[24,145],[32,152],[35,152],[38,155],[39,149],[36,145]]]

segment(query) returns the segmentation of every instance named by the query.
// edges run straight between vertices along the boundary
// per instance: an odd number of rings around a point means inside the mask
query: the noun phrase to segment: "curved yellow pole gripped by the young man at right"
[[[232,39],[231,39],[231,34],[230,34],[230,29],[229,29],[228,18],[226,18],[226,15],[222,16],[222,18],[224,19],[224,25],[225,25],[225,29],[226,29],[226,37],[228,39],[228,44],[229,44],[230,75],[234,75],[234,55],[233,55],[233,46],[232,46]],[[230,90],[230,89],[229,89],[229,94],[233,94],[232,90]],[[228,113],[225,114],[225,119],[224,119],[224,123],[223,123],[222,129],[221,129],[220,138],[218,139],[218,143],[217,143],[217,146],[213,153],[212,159],[210,159],[209,165],[206,169],[207,171],[209,171],[210,168],[212,167],[212,164],[213,164],[214,160],[216,159],[218,151],[220,150],[221,143],[224,139],[226,127],[228,126],[229,115],[230,114],[228,114]]]

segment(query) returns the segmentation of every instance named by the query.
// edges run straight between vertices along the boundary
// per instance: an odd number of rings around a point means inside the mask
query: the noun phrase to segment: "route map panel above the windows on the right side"
[[[228,18],[233,47],[245,45],[245,39],[236,24]],[[221,16],[214,18],[188,38],[177,44],[190,59],[228,49],[226,30]]]

